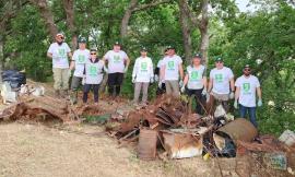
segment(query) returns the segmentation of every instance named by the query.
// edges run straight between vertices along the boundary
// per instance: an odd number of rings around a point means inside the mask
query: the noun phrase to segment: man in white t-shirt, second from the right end
[[[233,71],[224,67],[220,57],[215,59],[215,68],[210,71],[208,91],[215,99],[222,102],[224,109],[228,111],[227,102],[235,97],[235,81]]]

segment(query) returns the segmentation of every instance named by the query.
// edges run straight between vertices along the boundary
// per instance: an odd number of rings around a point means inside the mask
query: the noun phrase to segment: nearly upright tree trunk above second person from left
[[[76,27],[74,25],[74,0],[63,0],[63,9],[67,15],[67,26],[71,32],[72,37],[72,49],[75,50],[78,48],[78,36],[76,36]]]

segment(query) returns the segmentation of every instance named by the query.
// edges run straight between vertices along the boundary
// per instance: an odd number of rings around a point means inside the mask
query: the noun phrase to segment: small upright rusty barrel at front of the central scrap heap
[[[140,160],[151,161],[156,157],[157,131],[141,129],[138,153]]]

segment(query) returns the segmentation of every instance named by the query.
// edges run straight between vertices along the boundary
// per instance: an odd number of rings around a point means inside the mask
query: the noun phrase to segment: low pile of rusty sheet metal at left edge
[[[0,120],[58,120],[70,122],[78,116],[66,101],[49,96],[30,96],[26,101],[17,102],[5,108]]]

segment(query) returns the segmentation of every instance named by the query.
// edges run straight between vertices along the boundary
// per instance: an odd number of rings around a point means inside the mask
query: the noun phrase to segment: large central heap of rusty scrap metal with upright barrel
[[[231,148],[234,154],[226,153],[235,156],[232,138],[221,138],[222,135],[214,133],[213,139],[213,132],[227,122],[224,117],[225,115],[213,118],[191,114],[188,102],[162,96],[148,107],[130,111],[117,127],[107,125],[106,130],[120,143],[138,141],[139,157],[143,160],[155,158],[155,152],[161,146],[170,158],[192,157],[205,152],[216,155],[216,146],[220,148],[219,152]],[[214,140],[217,138],[222,140],[216,145]],[[226,142],[222,142],[223,140]],[[231,142],[227,143],[227,140]],[[226,146],[227,144],[232,145]]]

